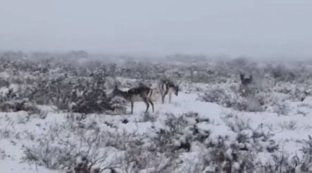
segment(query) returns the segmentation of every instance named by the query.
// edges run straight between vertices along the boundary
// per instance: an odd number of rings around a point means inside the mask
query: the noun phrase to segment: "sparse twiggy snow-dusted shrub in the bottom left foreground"
[[[70,131],[71,136],[66,136]],[[77,158],[83,157],[87,161],[87,170],[94,166],[107,169],[119,162],[110,156],[113,151],[105,147],[106,140],[107,136],[96,125],[86,122],[76,126],[57,124],[50,127],[46,135],[37,137],[36,145],[24,147],[22,160],[51,170],[71,170],[77,166]]]

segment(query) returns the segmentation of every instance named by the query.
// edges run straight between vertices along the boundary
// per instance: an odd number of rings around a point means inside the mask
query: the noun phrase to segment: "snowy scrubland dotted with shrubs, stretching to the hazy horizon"
[[[269,66],[244,59],[88,64],[80,58],[75,65],[70,60],[1,60],[7,63],[0,71],[1,172],[75,172],[84,158],[89,172],[97,167],[146,173],[312,171],[307,64]],[[78,109],[93,105],[81,101],[90,99],[86,95],[98,96],[82,89],[94,89],[92,84],[78,86],[84,78],[105,78],[101,87],[110,95],[114,80],[123,89],[148,81],[157,90],[159,71],[180,82],[181,90],[171,103],[166,98],[162,104],[155,95],[154,113],[144,113],[146,104],[135,102],[130,115],[129,102],[108,96],[103,99],[109,106],[103,107],[114,109]],[[253,76],[250,93],[240,93],[239,73]],[[51,81],[62,86],[55,89]],[[67,95],[71,91],[75,94]]]

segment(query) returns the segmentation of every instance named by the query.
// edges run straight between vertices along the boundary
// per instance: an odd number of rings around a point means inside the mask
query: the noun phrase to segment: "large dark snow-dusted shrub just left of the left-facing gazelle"
[[[92,79],[66,80],[50,82],[45,91],[52,104],[58,109],[78,113],[100,113],[112,110],[110,98],[105,93],[105,76],[94,74]]]

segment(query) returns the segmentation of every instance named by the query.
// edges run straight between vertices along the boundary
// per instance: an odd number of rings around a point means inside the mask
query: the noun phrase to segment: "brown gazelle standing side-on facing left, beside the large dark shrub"
[[[113,96],[118,95],[121,96],[122,98],[125,98],[125,100],[131,102],[131,114],[133,113],[134,102],[138,102],[141,100],[146,103],[145,113],[147,113],[150,104],[152,105],[152,109],[154,112],[154,104],[151,99],[152,94],[153,89],[150,89],[147,86],[139,86],[136,88],[129,89],[128,91],[121,91],[120,89],[118,89],[118,86],[116,85],[114,91],[112,92]]]

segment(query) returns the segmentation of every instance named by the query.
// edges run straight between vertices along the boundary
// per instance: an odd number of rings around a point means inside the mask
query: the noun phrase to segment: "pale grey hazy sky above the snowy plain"
[[[311,57],[310,0],[0,0],[0,50]]]

